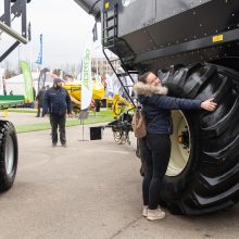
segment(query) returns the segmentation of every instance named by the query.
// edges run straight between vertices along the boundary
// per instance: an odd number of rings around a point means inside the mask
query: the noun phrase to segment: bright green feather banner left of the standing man
[[[25,81],[25,102],[32,103],[34,101],[32,72],[27,62],[21,61],[20,64],[23,71],[23,77]]]

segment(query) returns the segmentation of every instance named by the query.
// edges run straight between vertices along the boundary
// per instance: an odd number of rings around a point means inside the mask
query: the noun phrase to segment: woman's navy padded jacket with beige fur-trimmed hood
[[[152,87],[137,83],[134,90],[143,106],[147,131],[150,134],[171,135],[173,133],[171,110],[199,110],[202,103],[201,100],[168,97],[165,87]]]

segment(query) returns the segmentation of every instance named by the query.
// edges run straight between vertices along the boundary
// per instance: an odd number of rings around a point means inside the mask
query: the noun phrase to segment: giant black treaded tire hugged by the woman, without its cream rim
[[[237,81],[238,80],[238,81]],[[190,133],[188,162],[164,177],[160,203],[172,213],[200,215],[239,200],[239,77],[216,65],[172,66],[163,79],[173,97],[215,98],[215,112],[184,111]],[[143,159],[142,159],[143,160]]]

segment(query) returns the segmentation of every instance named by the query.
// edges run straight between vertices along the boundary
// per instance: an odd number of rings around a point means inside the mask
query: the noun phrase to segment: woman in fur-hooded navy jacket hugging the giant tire
[[[140,143],[140,152],[146,161],[142,215],[149,221],[162,219],[165,212],[159,207],[159,196],[171,158],[169,135],[173,134],[171,110],[214,111],[217,104],[213,99],[201,101],[168,97],[167,88],[162,86],[161,80],[152,72],[143,74],[134,86],[134,90],[143,106],[147,122],[147,136]]]

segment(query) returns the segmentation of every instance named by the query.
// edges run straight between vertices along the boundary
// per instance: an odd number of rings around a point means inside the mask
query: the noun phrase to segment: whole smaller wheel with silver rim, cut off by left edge
[[[0,121],[0,191],[7,191],[14,183],[18,160],[15,128],[12,123]]]

